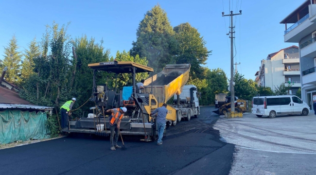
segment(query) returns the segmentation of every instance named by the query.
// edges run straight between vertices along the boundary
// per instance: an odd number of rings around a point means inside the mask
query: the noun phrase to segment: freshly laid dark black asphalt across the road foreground
[[[212,128],[213,109],[168,128],[162,145],[124,137],[111,151],[109,138],[81,135],[3,149],[0,175],[228,175],[235,145]]]

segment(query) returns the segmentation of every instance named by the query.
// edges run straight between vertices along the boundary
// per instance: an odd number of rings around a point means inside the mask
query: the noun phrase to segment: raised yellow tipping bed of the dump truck
[[[181,93],[183,86],[189,80],[190,68],[190,64],[166,65],[161,72],[145,80],[145,92],[151,92],[153,78],[153,95],[158,103],[166,103],[175,94]]]

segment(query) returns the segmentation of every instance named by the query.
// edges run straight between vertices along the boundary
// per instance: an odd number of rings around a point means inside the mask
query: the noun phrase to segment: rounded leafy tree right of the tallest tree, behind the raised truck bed
[[[190,25],[182,23],[174,28],[175,37],[179,43],[179,54],[176,57],[176,64],[190,63],[190,76],[203,78],[202,66],[206,64],[211,51],[206,48],[206,41],[200,33]]]

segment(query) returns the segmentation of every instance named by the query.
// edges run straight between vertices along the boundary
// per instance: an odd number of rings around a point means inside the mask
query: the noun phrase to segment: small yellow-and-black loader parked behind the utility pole
[[[246,112],[248,111],[248,101],[247,100],[241,100],[238,97],[235,96],[235,112]],[[226,97],[225,104],[220,106],[218,110],[213,111],[214,113],[218,115],[225,115],[227,112],[231,112],[230,107],[231,107],[231,102],[230,102],[230,97]]]

